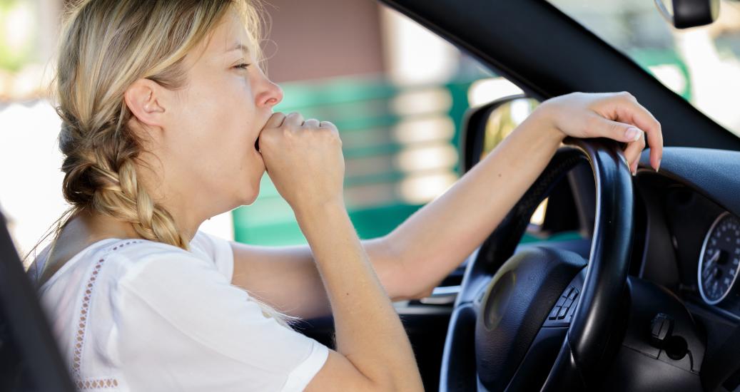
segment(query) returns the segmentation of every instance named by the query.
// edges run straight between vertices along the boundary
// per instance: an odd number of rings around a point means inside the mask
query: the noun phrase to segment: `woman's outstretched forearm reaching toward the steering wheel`
[[[431,290],[498,226],[562,142],[533,114],[445,194],[388,234],[408,291]],[[399,283],[391,283],[396,285]]]

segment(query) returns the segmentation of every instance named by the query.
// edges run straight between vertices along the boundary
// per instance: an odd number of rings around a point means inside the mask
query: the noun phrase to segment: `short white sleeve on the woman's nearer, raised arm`
[[[118,361],[132,391],[303,391],[325,345],[266,317],[206,260],[154,252],[118,283]]]

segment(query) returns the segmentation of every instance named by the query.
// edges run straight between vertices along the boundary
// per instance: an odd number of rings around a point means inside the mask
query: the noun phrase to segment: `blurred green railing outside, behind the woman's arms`
[[[408,195],[408,181],[457,176],[457,141],[470,84],[403,88],[377,78],[284,84],[285,99],[275,109],[337,125],[349,216],[361,238],[380,237],[423,205],[422,197]],[[444,162],[434,161],[435,151]],[[419,155],[431,160],[428,167],[406,167]],[[260,188],[255,203],[233,212],[235,240],[305,243],[292,210],[267,175]]]

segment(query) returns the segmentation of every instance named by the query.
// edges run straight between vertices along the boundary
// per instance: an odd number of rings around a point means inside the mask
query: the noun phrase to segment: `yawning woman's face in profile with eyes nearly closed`
[[[234,13],[201,47],[186,56],[188,81],[176,92],[169,127],[164,132],[166,180],[175,197],[194,197],[223,212],[251,204],[265,171],[255,142],[272,107],[283,98],[249,53],[249,34]],[[170,190],[172,193],[172,190]]]

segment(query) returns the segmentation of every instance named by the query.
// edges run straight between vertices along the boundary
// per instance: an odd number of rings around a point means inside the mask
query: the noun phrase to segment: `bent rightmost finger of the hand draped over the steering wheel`
[[[658,169],[663,156],[663,134],[660,123],[632,95],[622,94],[618,98],[616,121],[634,124],[645,131],[647,144],[650,145],[650,166]]]

